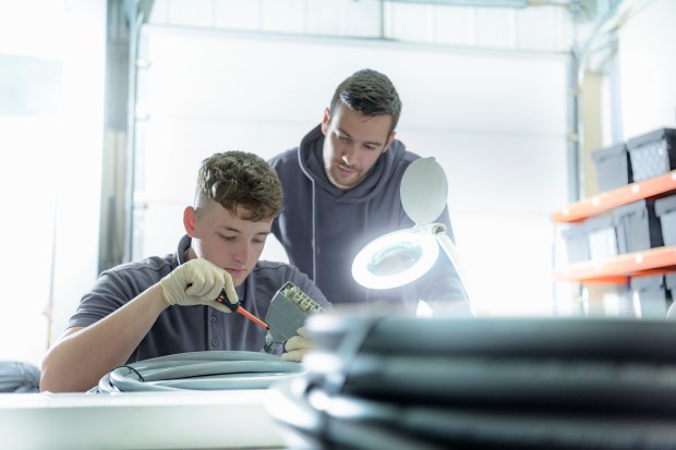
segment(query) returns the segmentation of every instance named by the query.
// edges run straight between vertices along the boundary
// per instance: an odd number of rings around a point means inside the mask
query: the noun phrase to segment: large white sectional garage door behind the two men
[[[336,85],[369,66],[398,87],[398,137],[447,172],[478,308],[551,314],[551,212],[567,195],[565,57],[153,26],[144,39],[137,197],[148,207],[136,257],[174,251],[204,157],[298,145]],[[276,245],[264,257],[286,259]]]

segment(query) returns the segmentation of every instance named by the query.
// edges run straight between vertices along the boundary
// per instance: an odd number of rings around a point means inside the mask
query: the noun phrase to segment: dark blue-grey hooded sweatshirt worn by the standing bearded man
[[[401,205],[399,186],[407,167],[420,158],[393,142],[369,175],[350,190],[334,186],[324,169],[324,134],[321,125],[270,165],[279,174],[285,205],[273,224],[273,233],[289,260],[306,273],[334,305],[374,304],[414,308],[419,300],[452,303],[469,311],[469,302],[457,272],[439,252],[436,266],[417,282],[401,288],[371,290],[352,278],[354,256],[372,240],[391,231],[411,228],[413,221]],[[438,222],[452,239],[448,208]]]

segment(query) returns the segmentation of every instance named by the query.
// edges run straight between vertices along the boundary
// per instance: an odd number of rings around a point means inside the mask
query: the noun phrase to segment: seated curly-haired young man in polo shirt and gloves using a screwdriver
[[[177,253],[104,271],[45,356],[40,389],[85,391],[120,365],[167,354],[259,351],[266,331],[228,314],[215,300],[221,289],[224,301],[239,299],[263,319],[287,281],[328,307],[297,268],[258,262],[281,199],[277,174],[262,158],[229,151],[205,159],[194,206],[183,212],[186,235]],[[300,361],[310,348],[309,340],[295,336],[282,357]]]

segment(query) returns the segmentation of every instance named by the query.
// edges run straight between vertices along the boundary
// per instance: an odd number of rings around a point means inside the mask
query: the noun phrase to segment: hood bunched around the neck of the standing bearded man
[[[322,125],[317,125],[303,137],[298,151],[299,163],[305,175],[312,181],[316,195],[326,196],[339,203],[367,202],[381,193],[394,168],[400,162],[406,148],[400,141],[393,141],[391,145],[371,168],[367,177],[350,190],[339,190],[334,186],[324,169],[324,133]]]

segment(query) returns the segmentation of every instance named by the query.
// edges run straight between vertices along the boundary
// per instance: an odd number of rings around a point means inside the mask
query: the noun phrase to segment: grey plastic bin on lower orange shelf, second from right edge
[[[654,200],[642,199],[613,209],[619,253],[640,252],[664,245]]]

